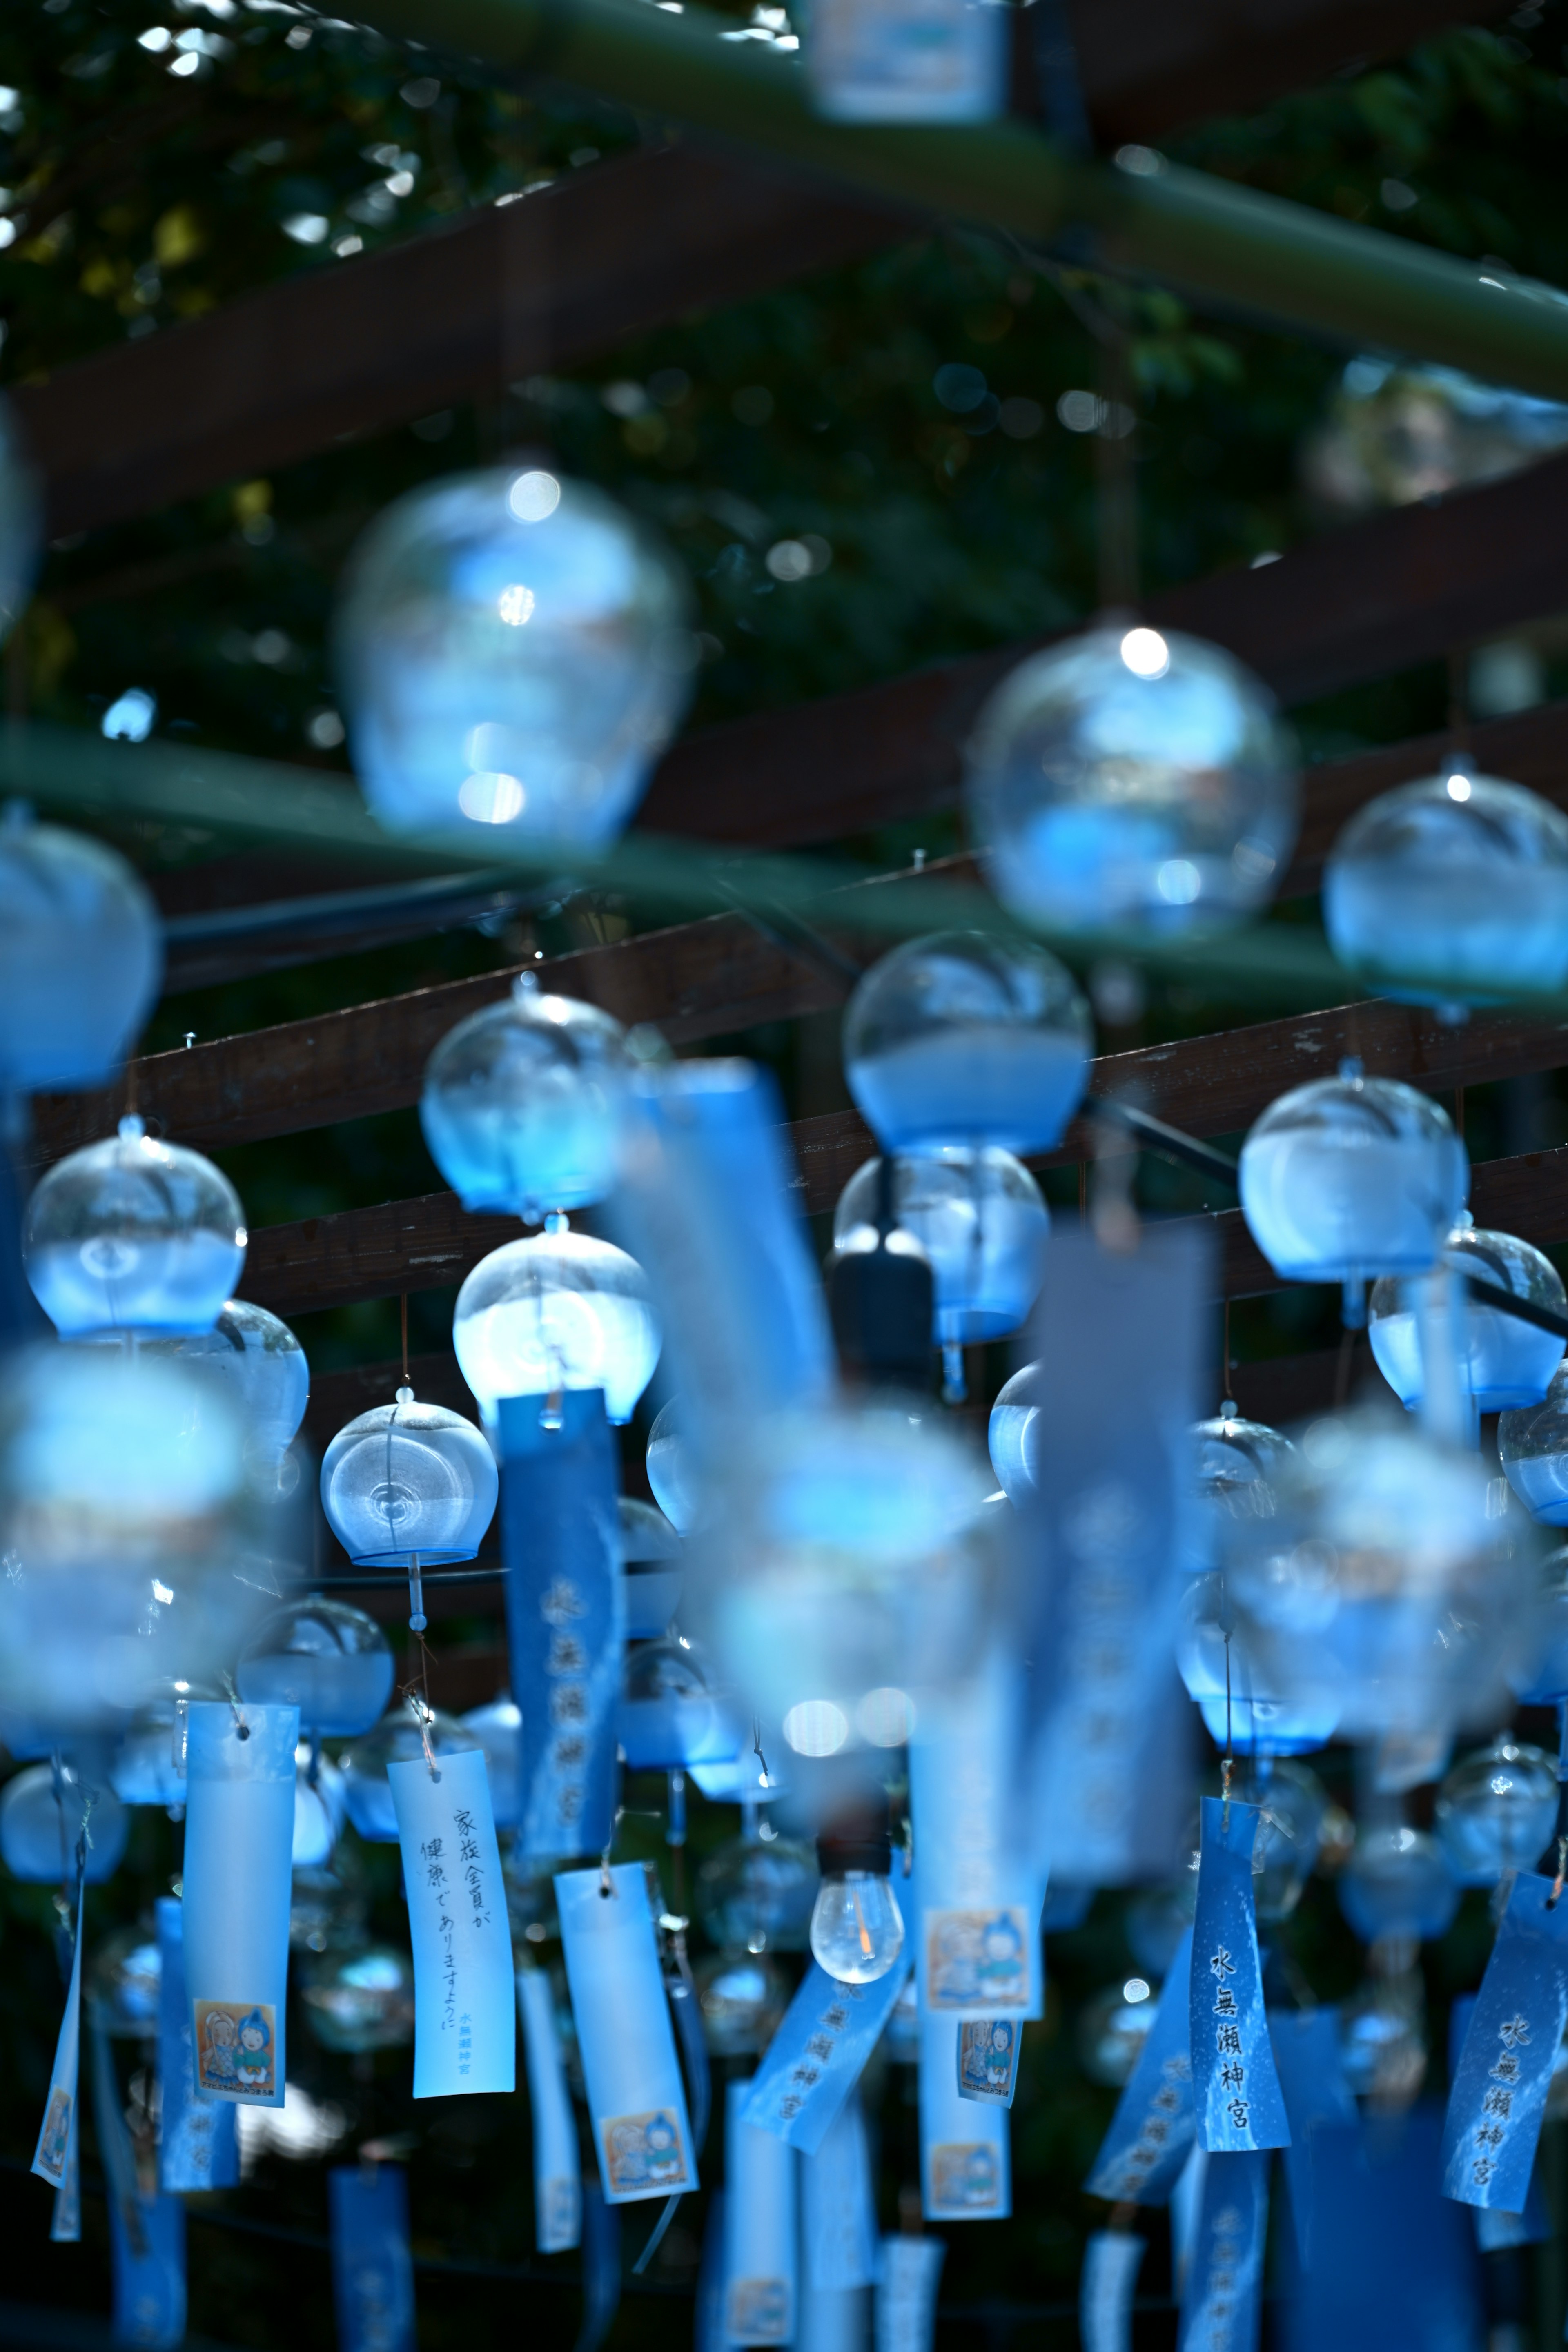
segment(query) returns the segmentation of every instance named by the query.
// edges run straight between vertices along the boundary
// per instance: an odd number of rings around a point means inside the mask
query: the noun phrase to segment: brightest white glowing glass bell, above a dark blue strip
[[[569,1232],[564,1216],[480,1258],[451,1319],[463,1378],[489,1423],[501,1397],[602,1388],[621,1425],[654,1378],[658,1343],[644,1270],[611,1242]]]

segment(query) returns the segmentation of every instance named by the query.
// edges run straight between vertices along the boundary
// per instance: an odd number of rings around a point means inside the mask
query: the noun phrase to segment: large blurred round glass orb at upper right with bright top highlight
[[[1093,628],[1004,677],[966,800],[985,873],[1027,922],[1192,931],[1267,906],[1298,823],[1274,696],[1218,644]]]

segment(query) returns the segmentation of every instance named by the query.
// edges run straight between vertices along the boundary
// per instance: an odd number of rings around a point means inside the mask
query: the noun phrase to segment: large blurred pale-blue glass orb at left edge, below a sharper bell
[[[212,1679],[261,1604],[244,1581],[252,1534],[240,1430],[176,1364],[14,1355],[0,1367],[0,1703],[59,1733],[120,1722],[167,1677]]]

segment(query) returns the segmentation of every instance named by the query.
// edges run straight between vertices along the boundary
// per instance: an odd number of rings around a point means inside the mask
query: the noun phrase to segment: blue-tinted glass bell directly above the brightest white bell
[[[430,1157],[465,1209],[529,1225],[550,1209],[588,1209],[616,1183],[628,1068],[618,1021],[543,995],[524,971],[425,1063],[418,1122]]]

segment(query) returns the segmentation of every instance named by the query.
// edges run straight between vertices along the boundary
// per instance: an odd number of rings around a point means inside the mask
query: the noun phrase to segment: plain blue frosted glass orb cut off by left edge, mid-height
[[[0,623],[5,621],[0,452]],[[0,635],[5,630],[0,628]],[[141,875],[85,833],[0,816],[0,1094],[106,1087],[162,978],[162,922]]]

